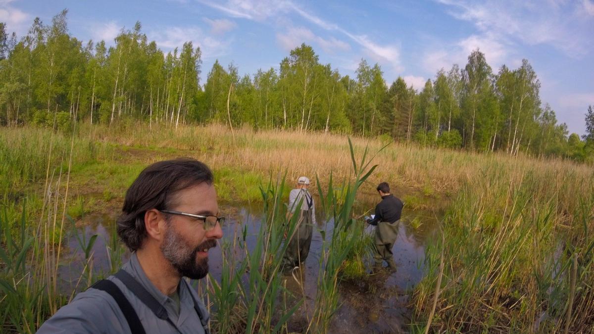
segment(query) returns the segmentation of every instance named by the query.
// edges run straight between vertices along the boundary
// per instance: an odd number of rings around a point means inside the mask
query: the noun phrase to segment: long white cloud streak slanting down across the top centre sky
[[[280,1],[252,1],[252,0],[230,0],[226,5],[219,4],[212,1],[200,0],[204,5],[211,8],[216,8],[231,17],[247,18],[254,21],[264,21],[268,18],[279,14],[295,13],[310,23],[321,29],[327,31],[337,31],[349,37],[353,42],[362,47],[364,52],[370,56],[374,61],[389,64],[396,71],[402,71],[403,67],[400,62],[400,52],[396,45],[381,45],[373,42],[368,36],[364,34],[354,34],[347,31],[335,23],[328,22],[303,10],[294,2],[280,0]],[[281,43],[283,48],[292,43],[290,31],[286,34],[277,35],[277,40]],[[328,39],[331,40],[331,39]],[[332,43],[336,44],[336,39]],[[328,44],[327,44],[328,45]],[[328,46],[327,46],[328,47]]]

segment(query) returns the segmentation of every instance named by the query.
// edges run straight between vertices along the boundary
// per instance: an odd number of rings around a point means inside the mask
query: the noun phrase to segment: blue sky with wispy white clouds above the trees
[[[0,0],[0,21],[23,36],[35,17],[47,24],[64,8],[71,34],[85,41],[113,44],[136,21],[163,51],[191,40],[203,52],[201,83],[216,59],[254,74],[305,42],[342,75],[365,58],[388,85],[400,75],[419,89],[479,48],[495,72],[528,59],[542,102],[570,132],[584,133],[594,105],[593,0]]]

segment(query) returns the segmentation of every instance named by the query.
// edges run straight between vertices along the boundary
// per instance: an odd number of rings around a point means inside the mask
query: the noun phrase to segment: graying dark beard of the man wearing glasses
[[[197,259],[197,252],[204,248],[210,248],[205,245],[208,242],[202,242],[198,247],[191,248],[184,238],[169,226],[161,244],[161,251],[165,259],[168,259],[171,265],[178,270],[179,275],[190,279],[201,279],[208,273],[208,258]]]

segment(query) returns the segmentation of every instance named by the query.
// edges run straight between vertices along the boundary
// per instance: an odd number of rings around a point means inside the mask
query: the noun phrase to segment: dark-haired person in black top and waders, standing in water
[[[383,261],[388,263],[390,270],[396,270],[396,263],[392,253],[392,247],[398,237],[398,228],[400,226],[400,216],[402,216],[402,207],[404,204],[400,198],[390,194],[390,185],[387,182],[381,182],[376,190],[381,196],[380,203],[375,206],[374,218],[368,218],[366,221],[375,228],[375,264],[372,269],[377,272],[383,266]]]

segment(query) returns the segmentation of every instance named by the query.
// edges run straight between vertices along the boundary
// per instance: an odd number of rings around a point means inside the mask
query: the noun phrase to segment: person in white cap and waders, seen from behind
[[[312,232],[315,224],[314,198],[308,191],[309,179],[299,177],[297,187],[289,193],[289,205],[287,207],[287,220],[298,214],[297,227],[293,235],[287,236],[289,245],[283,257],[283,268],[285,270],[299,267],[305,262],[311,245]]]

